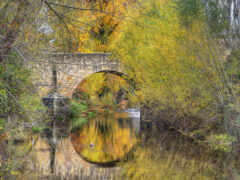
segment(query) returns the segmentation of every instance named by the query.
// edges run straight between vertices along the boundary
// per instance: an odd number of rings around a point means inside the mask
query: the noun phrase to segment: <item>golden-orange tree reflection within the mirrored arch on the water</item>
[[[123,158],[136,143],[128,121],[124,113],[105,113],[91,119],[81,130],[72,133],[75,150],[92,162],[107,163]]]

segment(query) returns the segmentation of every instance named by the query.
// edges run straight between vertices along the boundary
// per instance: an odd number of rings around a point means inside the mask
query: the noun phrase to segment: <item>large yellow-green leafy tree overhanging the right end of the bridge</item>
[[[171,0],[142,1],[126,18],[112,50],[138,84],[134,101],[159,102],[179,113],[214,109],[218,77],[200,20],[181,24]],[[131,15],[132,14],[132,15]],[[159,104],[159,105],[160,105]]]

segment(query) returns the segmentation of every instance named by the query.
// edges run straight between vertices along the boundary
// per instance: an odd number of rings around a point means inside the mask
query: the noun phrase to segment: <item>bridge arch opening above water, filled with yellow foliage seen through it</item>
[[[72,98],[89,101],[96,105],[106,103],[115,106],[119,105],[120,108],[124,109],[129,100],[129,95],[134,95],[134,90],[135,83],[126,74],[118,71],[103,70],[84,78],[74,89]],[[110,99],[112,99],[112,102]],[[99,101],[99,103],[96,101]],[[128,105],[130,104],[128,103]]]

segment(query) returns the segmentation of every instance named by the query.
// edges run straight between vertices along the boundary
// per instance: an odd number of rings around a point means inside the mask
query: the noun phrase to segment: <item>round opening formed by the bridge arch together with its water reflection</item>
[[[129,78],[116,71],[96,72],[79,83],[73,102],[81,106],[85,103],[88,110],[82,107],[72,120],[71,141],[80,156],[93,163],[108,164],[131,151],[137,142],[136,132],[133,118],[124,110],[130,106],[128,95],[133,90]]]

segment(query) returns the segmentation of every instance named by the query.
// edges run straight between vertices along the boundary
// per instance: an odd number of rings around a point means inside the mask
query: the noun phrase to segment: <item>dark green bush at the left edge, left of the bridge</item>
[[[30,72],[12,53],[0,66],[0,115],[19,110],[18,99],[31,89]]]

